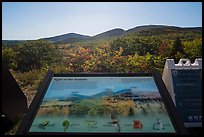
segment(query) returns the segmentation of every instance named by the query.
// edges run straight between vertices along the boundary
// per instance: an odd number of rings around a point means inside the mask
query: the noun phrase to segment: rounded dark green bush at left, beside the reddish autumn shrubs
[[[28,41],[17,54],[18,70],[29,71],[55,63],[59,56],[54,46],[45,41]]]

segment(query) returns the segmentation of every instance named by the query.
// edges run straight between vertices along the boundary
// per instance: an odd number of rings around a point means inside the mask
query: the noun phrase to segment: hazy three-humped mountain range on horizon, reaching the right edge
[[[181,32],[197,32],[202,34],[202,27],[189,27],[181,28],[176,26],[165,26],[165,25],[143,25],[137,26],[128,30],[121,28],[116,28],[112,30],[105,31],[103,33],[97,34],[95,36],[85,36],[76,33],[68,33],[64,35],[59,35],[50,38],[43,38],[43,40],[48,40],[53,43],[74,43],[81,41],[91,41],[91,40],[107,40],[113,39],[121,36],[131,35],[132,33],[138,33],[139,35],[160,35],[169,33],[181,33]]]

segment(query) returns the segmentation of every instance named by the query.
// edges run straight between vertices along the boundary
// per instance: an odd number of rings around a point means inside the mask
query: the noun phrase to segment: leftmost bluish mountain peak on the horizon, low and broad
[[[68,33],[64,35],[42,38],[42,39],[53,43],[73,43],[73,42],[79,42],[88,38],[90,38],[90,36],[76,34],[76,33]]]

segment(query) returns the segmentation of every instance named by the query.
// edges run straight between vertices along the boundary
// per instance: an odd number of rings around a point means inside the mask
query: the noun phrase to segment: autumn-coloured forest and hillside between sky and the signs
[[[9,66],[29,102],[48,69],[55,73],[162,72],[167,58],[174,58],[175,63],[180,58],[192,62],[202,58],[202,28],[150,25],[115,29],[82,41],[2,42],[2,62]]]

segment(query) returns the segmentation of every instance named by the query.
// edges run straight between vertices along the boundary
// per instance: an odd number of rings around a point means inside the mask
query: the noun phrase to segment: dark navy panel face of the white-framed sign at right
[[[202,122],[202,70],[172,69],[176,108],[187,125]]]

